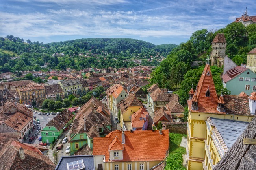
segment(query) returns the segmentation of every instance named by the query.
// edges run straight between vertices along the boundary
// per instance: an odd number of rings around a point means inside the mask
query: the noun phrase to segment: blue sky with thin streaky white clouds
[[[180,44],[200,29],[223,28],[255,0],[1,0],[0,36],[43,43],[134,38]]]

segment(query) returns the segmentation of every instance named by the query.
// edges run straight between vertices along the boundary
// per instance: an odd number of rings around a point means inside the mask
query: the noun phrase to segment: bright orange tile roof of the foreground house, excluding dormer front
[[[93,138],[93,155],[105,155],[105,162],[163,161],[169,148],[169,130],[124,131],[125,143],[122,160],[111,160],[109,146],[117,137],[122,139],[122,131],[115,130],[106,137]],[[156,142],[157,141],[157,142]]]

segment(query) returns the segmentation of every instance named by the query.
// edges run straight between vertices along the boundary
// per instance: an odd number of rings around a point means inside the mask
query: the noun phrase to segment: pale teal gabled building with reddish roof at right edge
[[[231,91],[231,95],[241,92],[250,95],[256,91],[256,74],[245,66],[236,66],[222,76],[224,87]]]

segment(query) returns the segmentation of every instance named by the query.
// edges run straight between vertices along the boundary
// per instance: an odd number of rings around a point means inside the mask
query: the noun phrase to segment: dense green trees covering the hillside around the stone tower
[[[203,66],[191,68],[193,60],[204,60],[211,52],[211,42],[217,33],[224,33],[227,47],[226,55],[237,65],[246,63],[247,53],[256,47],[256,24],[245,27],[242,23],[233,22],[219,30],[202,29],[195,31],[186,43],[171,51],[151,74],[151,84],[157,83],[161,88],[168,88],[178,93],[182,104],[186,104],[188,92],[196,86],[203,71]],[[230,91],[223,88],[221,73],[223,68],[211,67],[215,88],[218,94]]]

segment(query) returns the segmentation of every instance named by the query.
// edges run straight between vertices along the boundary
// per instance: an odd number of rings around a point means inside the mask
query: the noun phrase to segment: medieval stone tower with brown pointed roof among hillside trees
[[[224,57],[226,55],[226,38],[223,33],[218,33],[211,42],[211,66],[217,65],[221,67],[224,65]]]

